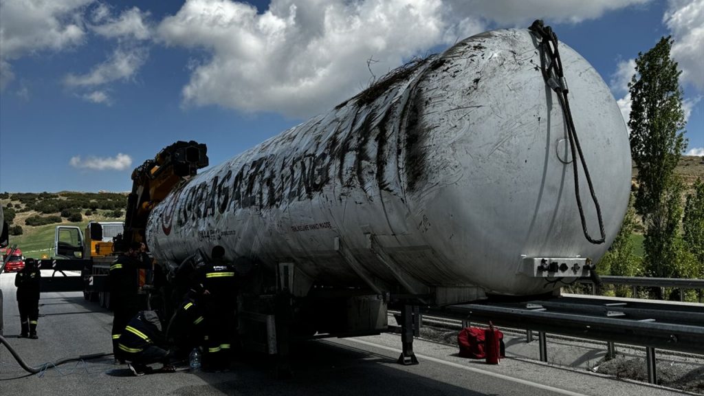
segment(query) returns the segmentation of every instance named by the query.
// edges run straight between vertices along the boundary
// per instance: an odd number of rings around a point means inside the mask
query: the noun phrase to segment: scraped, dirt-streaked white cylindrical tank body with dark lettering
[[[210,168],[151,213],[147,241],[178,264],[222,245],[315,283],[477,285],[530,295],[558,283],[521,273],[523,256],[597,261],[629,199],[631,157],[615,99],[589,63],[560,43],[572,116],[601,204],[605,243],[582,232],[565,117],[527,30],[497,30],[395,70],[329,113]],[[598,237],[584,172],[586,225]],[[337,242],[336,242],[337,238]]]

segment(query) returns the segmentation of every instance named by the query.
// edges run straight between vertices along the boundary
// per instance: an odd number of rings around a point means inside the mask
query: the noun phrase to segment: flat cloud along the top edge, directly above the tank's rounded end
[[[579,23],[608,11],[646,4],[650,0],[446,0],[452,13],[493,20],[505,27],[526,27],[536,19],[553,23]]]

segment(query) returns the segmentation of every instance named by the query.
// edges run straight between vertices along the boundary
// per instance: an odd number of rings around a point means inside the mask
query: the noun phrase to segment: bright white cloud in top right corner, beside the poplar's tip
[[[670,0],[663,22],[672,32],[672,58],[681,80],[704,92],[704,4],[702,0]]]

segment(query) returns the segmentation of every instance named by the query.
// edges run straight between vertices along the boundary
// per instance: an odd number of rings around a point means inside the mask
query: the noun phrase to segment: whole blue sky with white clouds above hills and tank
[[[176,140],[220,163],[353,96],[369,67],[536,18],[626,114],[633,59],[672,35],[704,155],[702,0],[0,0],[0,192],[128,191]]]

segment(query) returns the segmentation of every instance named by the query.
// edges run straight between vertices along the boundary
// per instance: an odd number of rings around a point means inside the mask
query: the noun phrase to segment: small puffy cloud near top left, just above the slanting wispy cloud
[[[133,7],[122,12],[118,18],[111,18],[109,11],[103,11],[100,7],[99,9],[101,11],[98,18],[101,25],[91,27],[91,30],[98,35],[111,39],[136,40],[146,40],[151,37],[151,27],[147,22],[149,12],[142,12],[139,8]]]

